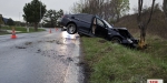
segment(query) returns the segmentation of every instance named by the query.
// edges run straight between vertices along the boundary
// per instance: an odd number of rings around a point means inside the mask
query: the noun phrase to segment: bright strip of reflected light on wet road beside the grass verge
[[[62,42],[69,50],[68,52],[68,69],[66,71],[65,82],[63,83],[84,83],[84,74],[79,63],[79,35],[68,34],[67,32],[62,32]],[[62,45],[65,48],[65,45]]]

